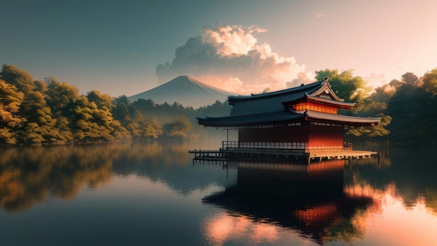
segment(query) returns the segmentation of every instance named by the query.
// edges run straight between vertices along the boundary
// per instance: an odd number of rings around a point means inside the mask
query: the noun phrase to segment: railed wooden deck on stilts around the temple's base
[[[248,157],[251,159],[304,159],[307,164],[311,160],[321,161],[322,159],[364,159],[370,158],[377,152],[360,151],[360,150],[337,150],[337,151],[292,151],[292,150],[256,150],[256,149],[239,149],[239,150],[189,150],[188,153],[194,154],[193,161],[229,161],[237,157]]]

